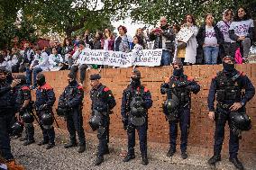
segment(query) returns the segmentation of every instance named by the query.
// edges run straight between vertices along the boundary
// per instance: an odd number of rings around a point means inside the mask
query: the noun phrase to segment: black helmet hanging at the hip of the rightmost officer
[[[238,130],[251,130],[251,118],[245,113],[231,112],[230,119],[233,127]]]

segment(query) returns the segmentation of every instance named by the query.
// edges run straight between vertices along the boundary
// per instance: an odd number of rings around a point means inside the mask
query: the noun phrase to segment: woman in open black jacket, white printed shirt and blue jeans
[[[214,24],[213,14],[207,13],[205,19],[206,24],[202,25],[197,33],[197,53],[203,50],[205,64],[215,65],[217,64],[219,46],[224,42],[224,35]],[[197,60],[198,57],[201,58],[197,54]]]

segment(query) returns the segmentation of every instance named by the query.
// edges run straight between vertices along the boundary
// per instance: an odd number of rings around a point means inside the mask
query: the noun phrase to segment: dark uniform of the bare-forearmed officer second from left
[[[19,116],[22,117],[24,112],[32,113],[32,103],[30,102],[25,108],[23,103],[25,100],[32,101],[30,87],[28,85],[21,85],[17,92],[16,104],[18,107]],[[32,123],[25,123],[25,138],[27,140],[24,145],[34,142],[34,127]]]

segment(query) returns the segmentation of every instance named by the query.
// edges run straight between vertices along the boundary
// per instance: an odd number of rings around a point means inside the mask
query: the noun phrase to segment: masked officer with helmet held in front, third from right
[[[152,106],[150,91],[141,84],[141,72],[133,69],[131,85],[123,90],[121,115],[123,128],[128,135],[128,153],[123,162],[135,158],[135,129],[138,130],[140,139],[140,150],[142,154],[142,165],[148,165],[147,157],[147,130],[148,109]]]

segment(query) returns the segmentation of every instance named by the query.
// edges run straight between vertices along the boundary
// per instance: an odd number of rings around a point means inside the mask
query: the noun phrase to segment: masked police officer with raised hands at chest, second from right
[[[176,119],[169,119],[169,151],[167,157],[172,157],[176,152],[176,139],[178,133],[178,123],[181,131],[180,150],[181,157],[187,158],[187,135],[190,122],[191,92],[197,94],[200,85],[187,75],[184,75],[183,64],[180,61],[173,63],[173,75],[168,77],[164,84],[160,86],[161,94],[167,94],[167,99],[178,99],[178,107],[171,113]],[[168,110],[168,109],[167,109]],[[164,113],[168,115],[167,110]]]

